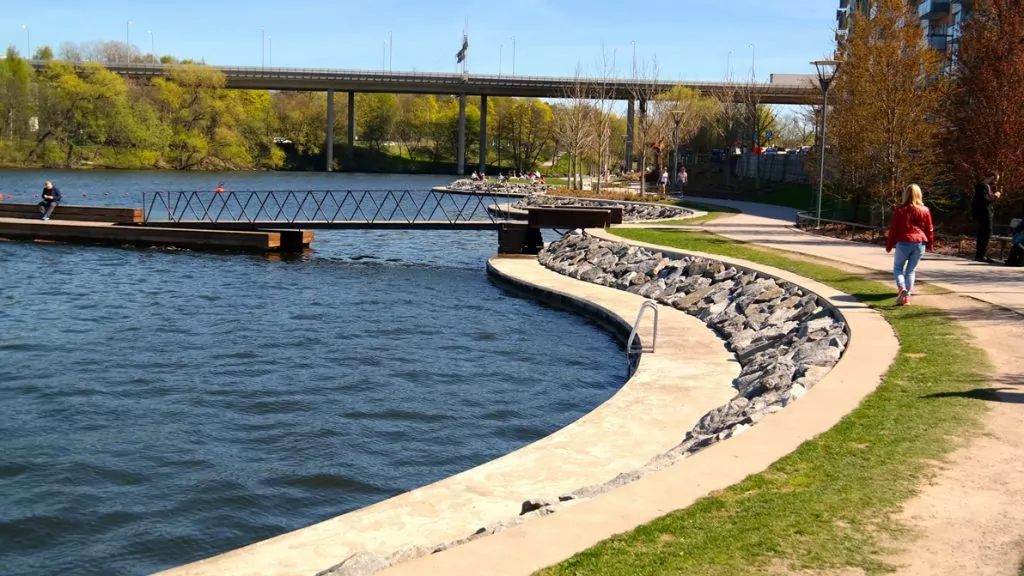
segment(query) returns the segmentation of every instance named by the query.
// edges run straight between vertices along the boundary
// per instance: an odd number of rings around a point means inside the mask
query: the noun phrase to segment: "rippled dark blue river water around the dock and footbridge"
[[[100,198],[447,179],[19,171],[0,172],[0,191],[46,178]],[[493,286],[496,245],[493,232],[322,231],[312,255],[282,260],[0,242],[0,572],[207,558],[590,411],[623,383],[622,351]]]

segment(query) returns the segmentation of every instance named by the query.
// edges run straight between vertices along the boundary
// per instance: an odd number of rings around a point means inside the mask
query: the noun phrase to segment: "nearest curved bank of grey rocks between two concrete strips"
[[[804,396],[839,362],[849,341],[846,323],[816,294],[717,260],[671,258],[574,232],[546,247],[539,261],[698,318],[726,340],[741,366],[735,398],[706,414],[678,446],[640,470],[578,490],[568,495],[572,498],[632,482],[746,430]]]

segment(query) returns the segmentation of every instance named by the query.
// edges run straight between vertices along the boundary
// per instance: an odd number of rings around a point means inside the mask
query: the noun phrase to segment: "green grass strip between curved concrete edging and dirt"
[[[703,233],[615,229],[634,240],[755,260],[833,286],[881,313],[901,354],[884,382],[833,429],[762,474],[546,570],[568,575],[753,575],[893,571],[894,512],[977,426],[984,353],[941,311],[896,306],[892,288],[837,269]],[[856,339],[857,335],[854,334]]]

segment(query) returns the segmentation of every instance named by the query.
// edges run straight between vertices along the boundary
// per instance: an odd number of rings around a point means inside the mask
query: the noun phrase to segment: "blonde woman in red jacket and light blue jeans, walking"
[[[886,242],[886,252],[892,252],[896,248],[893,276],[896,277],[896,288],[899,290],[896,295],[897,304],[910,303],[918,262],[925,255],[925,250],[931,251],[934,246],[932,213],[922,199],[921,187],[910,184],[903,191],[903,204],[893,214],[889,224],[889,240]]]

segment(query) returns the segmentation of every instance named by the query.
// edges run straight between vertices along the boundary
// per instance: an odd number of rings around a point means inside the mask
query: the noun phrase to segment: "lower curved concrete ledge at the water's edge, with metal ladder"
[[[644,301],[549,271],[536,257],[495,258],[490,268],[493,276],[507,279],[501,283],[516,285],[513,291],[580,308],[605,325],[617,323],[627,336]],[[649,322],[648,315],[648,330]],[[641,337],[649,342],[644,330]],[[625,353],[621,360],[625,375]],[[162,574],[312,576],[358,552],[387,558],[468,537],[514,520],[524,500],[554,499],[643,466],[735,396],[738,374],[735,357],[702,322],[660,306],[656,354],[642,355],[614,396],[568,426],[423,488]]]

